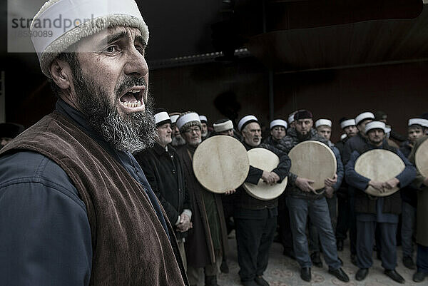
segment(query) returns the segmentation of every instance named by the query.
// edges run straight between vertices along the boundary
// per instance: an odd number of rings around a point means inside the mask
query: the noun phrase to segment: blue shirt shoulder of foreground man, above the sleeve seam
[[[0,189],[13,185],[55,189],[83,205],[66,172],[53,160],[40,153],[22,150],[1,155]]]

